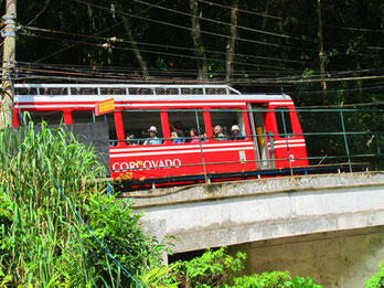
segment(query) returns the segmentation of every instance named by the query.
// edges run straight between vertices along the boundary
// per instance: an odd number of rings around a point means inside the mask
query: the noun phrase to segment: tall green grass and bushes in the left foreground
[[[118,287],[131,279],[106,255],[57,190],[52,175],[103,244],[136,275],[160,259],[131,203],[104,193],[93,148],[63,129],[33,124],[0,131],[0,286]]]

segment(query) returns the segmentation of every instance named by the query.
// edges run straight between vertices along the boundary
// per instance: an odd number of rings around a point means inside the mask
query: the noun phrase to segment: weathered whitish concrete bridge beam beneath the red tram
[[[384,172],[213,183],[130,196],[135,210],[145,211],[148,233],[179,239],[174,253],[370,232],[378,233],[382,248],[375,253],[384,260]],[[373,274],[375,267],[370,269]],[[342,287],[337,282],[328,287]]]

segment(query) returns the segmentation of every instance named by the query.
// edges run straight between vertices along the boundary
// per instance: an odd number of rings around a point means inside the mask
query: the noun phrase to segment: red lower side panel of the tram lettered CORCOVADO
[[[252,141],[110,147],[114,178],[147,179],[256,169]]]

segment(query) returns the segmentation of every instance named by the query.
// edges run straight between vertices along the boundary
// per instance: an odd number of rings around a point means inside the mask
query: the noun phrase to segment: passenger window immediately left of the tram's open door
[[[222,127],[222,134],[224,135],[224,137],[217,137],[218,134],[216,132],[216,135],[214,135],[216,137],[216,140],[223,141],[223,140],[245,140],[246,139],[243,111],[228,110],[228,109],[212,110],[211,119],[212,119],[213,130],[215,130],[216,126],[220,126]],[[237,135],[235,135],[235,132],[232,130],[232,128],[236,128],[236,126],[238,126],[237,128],[239,129]]]

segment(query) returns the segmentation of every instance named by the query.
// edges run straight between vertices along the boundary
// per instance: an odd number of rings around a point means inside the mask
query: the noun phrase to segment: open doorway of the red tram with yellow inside
[[[265,111],[263,107],[255,104],[248,104],[250,131],[253,135],[253,142],[255,147],[255,158],[258,160],[258,169],[273,168],[273,162],[269,159],[268,141],[266,137],[266,129],[264,122]]]

